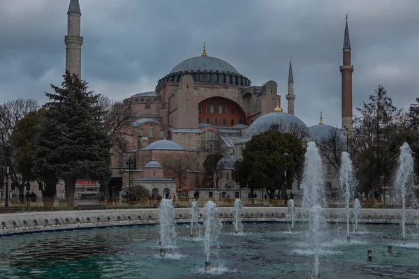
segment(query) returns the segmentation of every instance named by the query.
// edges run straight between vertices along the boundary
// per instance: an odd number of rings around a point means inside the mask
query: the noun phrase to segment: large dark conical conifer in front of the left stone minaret
[[[87,82],[66,70],[62,87],[45,93],[45,104],[34,140],[35,174],[47,181],[63,179],[68,204],[73,205],[77,179],[110,177],[110,137],[99,119],[99,95],[87,91]]]

